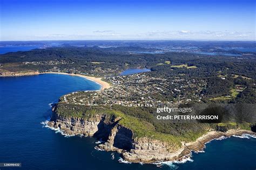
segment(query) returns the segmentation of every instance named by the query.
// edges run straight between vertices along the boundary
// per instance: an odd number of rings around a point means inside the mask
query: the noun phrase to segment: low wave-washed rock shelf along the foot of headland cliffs
[[[54,121],[53,121],[54,122]],[[53,125],[53,122],[47,122],[45,126],[46,128],[50,128],[54,130],[55,127]],[[65,121],[64,121],[65,122]],[[67,129],[58,129],[64,136],[75,136],[75,135],[82,135],[84,137],[87,137],[86,135],[82,133],[73,133],[75,131],[70,130],[69,128]],[[130,163],[143,163],[143,164],[156,164],[157,166],[161,166],[165,162],[186,162],[187,160],[190,160],[192,157],[192,153],[200,153],[204,152],[204,149],[206,147],[206,144],[210,143],[212,140],[223,140],[230,138],[232,136],[234,137],[240,137],[244,134],[249,134],[252,136],[256,136],[256,133],[250,130],[242,130],[242,129],[231,129],[226,132],[220,132],[220,131],[215,131],[211,130],[205,134],[203,134],[201,137],[197,138],[196,141],[192,141],[190,143],[183,143],[181,148],[176,151],[176,152],[169,152],[169,153],[164,153],[165,154],[165,159],[152,159],[149,161],[143,161],[141,156],[144,156],[143,153],[136,152],[134,150],[133,152],[129,152],[126,150],[123,150],[121,148],[116,148],[116,147],[104,147],[108,146],[105,144],[108,144],[107,141],[104,141],[103,143],[100,143],[99,145],[95,146],[96,150],[100,151],[105,151],[105,152],[116,152],[120,154],[120,157],[122,158],[123,161],[125,162],[130,162]],[[90,135],[88,135],[90,136]],[[97,139],[97,138],[96,138]],[[141,155],[142,154],[142,155]],[[155,154],[155,153],[154,153]],[[132,157],[130,157],[132,155]],[[147,157],[147,155],[146,155]]]

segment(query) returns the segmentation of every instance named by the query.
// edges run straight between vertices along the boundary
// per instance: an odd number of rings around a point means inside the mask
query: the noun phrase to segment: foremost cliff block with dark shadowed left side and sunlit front
[[[105,151],[122,154],[126,161],[151,163],[160,160],[175,160],[183,151],[168,143],[150,138],[133,138],[132,130],[117,124],[111,130],[108,140],[98,146]]]

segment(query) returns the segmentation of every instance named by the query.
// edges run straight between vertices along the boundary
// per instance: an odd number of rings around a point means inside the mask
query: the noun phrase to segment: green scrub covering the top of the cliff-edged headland
[[[217,129],[218,126],[228,129],[250,130],[249,123],[157,123],[153,119],[152,108],[130,108],[120,105],[112,107],[86,107],[84,105],[58,103],[59,115],[67,117],[93,118],[96,115],[105,115],[105,121],[120,119],[119,123],[133,131],[134,138],[148,137],[166,141],[180,146],[181,141],[194,141],[209,129]]]

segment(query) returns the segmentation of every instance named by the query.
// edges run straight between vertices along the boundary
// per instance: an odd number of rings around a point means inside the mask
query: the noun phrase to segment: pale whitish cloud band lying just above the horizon
[[[2,40],[7,37],[2,37]],[[149,31],[149,32],[134,32],[129,34],[117,33],[113,30],[93,31],[91,34],[45,34],[34,35],[30,37],[12,36],[8,40],[169,40],[169,39],[204,39],[204,40],[255,40],[254,32],[239,32],[239,31]]]

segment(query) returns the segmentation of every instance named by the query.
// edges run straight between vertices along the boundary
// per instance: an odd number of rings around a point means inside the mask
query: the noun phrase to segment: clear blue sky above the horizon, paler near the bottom
[[[0,2],[0,40],[255,40],[254,1]]]

